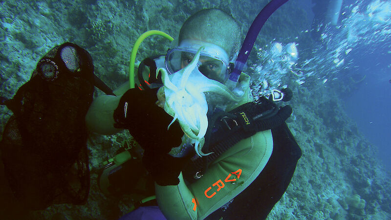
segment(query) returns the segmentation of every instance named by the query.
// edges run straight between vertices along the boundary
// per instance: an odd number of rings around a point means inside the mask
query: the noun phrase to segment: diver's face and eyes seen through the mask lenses
[[[189,65],[190,62],[193,60],[194,54],[192,53],[182,53],[181,55],[181,68],[184,68],[185,66]],[[198,67],[198,70],[209,79],[214,79],[219,82],[222,82],[225,77],[225,66],[223,63],[219,60],[210,58],[210,57],[200,57],[199,63],[201,65]]]

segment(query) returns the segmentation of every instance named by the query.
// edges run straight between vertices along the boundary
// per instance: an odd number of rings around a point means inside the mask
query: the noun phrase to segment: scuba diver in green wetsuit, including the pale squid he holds
[[[155,219],[264,219],[282,197],[301,150],[284,123],[292,109],[273,100],[288,101],[291,92],[254,103],[250,77],[241,71],[228,85],[239,41],[234,18],[201,10],[184,22],[178,46],[140,64],[138,88],[126,83],[117,96],[91,104],[88,129],[128,129],[156,183],[158,207],[122,219],[146,212]]]

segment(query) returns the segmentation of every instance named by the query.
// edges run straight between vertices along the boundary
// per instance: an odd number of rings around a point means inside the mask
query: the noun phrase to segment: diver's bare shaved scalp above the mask
[[[239,51],[239,23],[219,9],[204,9],[183,23],[179,32],[179,44],[186,39],[216,44],[232,59]]]

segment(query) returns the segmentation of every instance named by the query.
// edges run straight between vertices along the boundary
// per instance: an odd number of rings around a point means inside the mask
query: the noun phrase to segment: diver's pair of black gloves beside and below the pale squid
[[[178,176],[188,158],[175,158],[167,153],[182,143],[183,131],[178,121],[170,129],[173,117],[155,102],[157,89],[129,89],[114,111],[114,127],[129,129],[145,150],[143,164],[157,184],[177,185]]]

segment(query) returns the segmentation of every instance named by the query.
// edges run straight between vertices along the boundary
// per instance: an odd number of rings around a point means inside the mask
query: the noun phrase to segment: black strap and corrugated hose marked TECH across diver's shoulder
[[[279,108],[265,97],[261,97],[259,101],[260,103],[246,103],[229,112],[214,113],[208,118],[208,130],[202,152],[214,153],[202,157],[194,154],[182,172],[186,181],[194,182],[202,176],[210,162],[240,140],[284,124],[292,113],[290,106]]]

